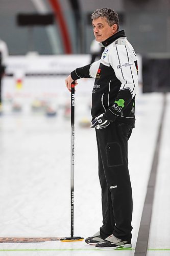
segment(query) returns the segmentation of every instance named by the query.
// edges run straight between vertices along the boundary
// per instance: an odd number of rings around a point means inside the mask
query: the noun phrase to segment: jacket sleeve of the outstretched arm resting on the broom
[[[93,62],[91,65],[78,68],[71,72],[71,78],[75,81],[80,78],[95,78],[100,65],[100,60]]]

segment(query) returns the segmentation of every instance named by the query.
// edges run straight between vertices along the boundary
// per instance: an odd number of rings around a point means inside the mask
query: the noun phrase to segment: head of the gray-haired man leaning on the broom
[[[119,29],[118,14],[112,9],[97,9],[91,14],[96,41],[105,41]]]

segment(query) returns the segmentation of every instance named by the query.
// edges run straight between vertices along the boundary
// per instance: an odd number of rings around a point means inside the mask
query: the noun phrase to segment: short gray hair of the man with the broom
[[[109,8],[97,9],[91,14],[91,19],[96,19],[99,17],[105,17],[110,27],[113,24],[116,24],[117,30],[119,29],[118,14],[112,9],[109,9]]]

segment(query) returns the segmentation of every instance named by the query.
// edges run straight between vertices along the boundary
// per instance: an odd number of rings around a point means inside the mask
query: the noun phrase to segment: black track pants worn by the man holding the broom
[[[132,238],[132,189],[128,170],[128,139],[132,127],[113,122],[96,130],[99,178],[102,188],[103,226],[101,236]]]

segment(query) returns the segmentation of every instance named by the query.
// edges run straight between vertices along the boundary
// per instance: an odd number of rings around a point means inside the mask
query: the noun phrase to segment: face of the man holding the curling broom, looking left
[[[111,27],[107,23],[107,19],[105,17],[99,17],[92,20],[93,32],[95,36],[95,40],[98,42],[103,42],[115,32],[117,32],[117,25],[114,24]]]

